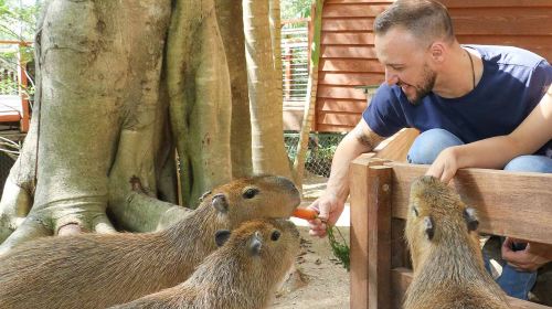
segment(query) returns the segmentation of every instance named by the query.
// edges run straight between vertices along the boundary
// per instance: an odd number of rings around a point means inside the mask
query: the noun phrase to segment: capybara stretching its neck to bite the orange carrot
[[[300,203],[282,177],[234,180],[168,230],[46,237],[0,258],[0,308],[106,308],[183,283],[217,246],[213,235]]]

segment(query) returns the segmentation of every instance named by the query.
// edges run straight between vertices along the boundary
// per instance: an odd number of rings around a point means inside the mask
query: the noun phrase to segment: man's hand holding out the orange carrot
[[[312,202],[309,207],[317,210],[319,213],[318,219],[309,220],[309,234],[312,236],[323,237],[326,236],[326,225],[336,224],[339,216],[343,212],[344,201],[340,201],[332,193],[325,193],[322,196]]]

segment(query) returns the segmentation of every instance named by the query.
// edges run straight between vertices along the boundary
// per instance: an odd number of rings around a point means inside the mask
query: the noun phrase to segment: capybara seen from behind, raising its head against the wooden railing
[[[509,308],[485,270],[477,225],[452,188],[429,175],[412,183],[405,235],[414,275],[405,309]]]

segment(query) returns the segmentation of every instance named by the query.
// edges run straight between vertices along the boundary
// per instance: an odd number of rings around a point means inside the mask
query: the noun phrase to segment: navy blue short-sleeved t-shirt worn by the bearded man
[[[412,105],[401,87],[382,84],[362,114],[378,135],[402,128],[445,129],[464,142],[508,135],[539,104],[552,83],[552,66],[543,57],[511,46],[465,45],[479,52],[482,76],[476,88],[458,98],[434,93]],[[539,150],[552,149],[552,141]]]

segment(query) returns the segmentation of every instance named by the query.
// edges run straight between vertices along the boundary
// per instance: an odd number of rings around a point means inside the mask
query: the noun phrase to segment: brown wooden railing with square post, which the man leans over
[[[368,154],[352,162],[351,308],[402,307],[412,281],[403,237],[410,184],[426,169]],[[480,232],[552,244],[552,174],[464,169],[453,184],[463,201],[478,209]],[[549,308],[509,302],[519,309]]]

